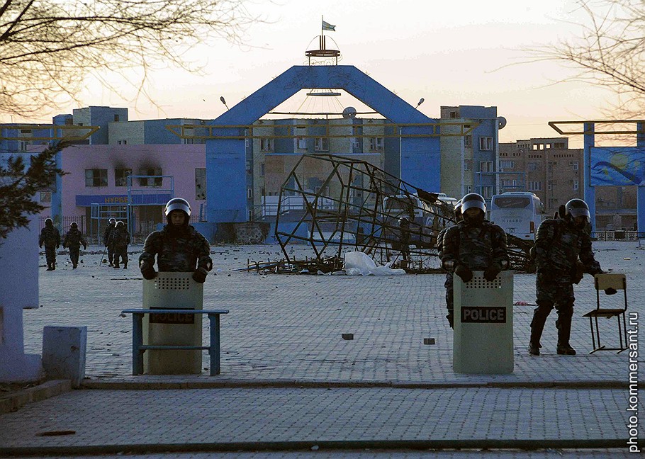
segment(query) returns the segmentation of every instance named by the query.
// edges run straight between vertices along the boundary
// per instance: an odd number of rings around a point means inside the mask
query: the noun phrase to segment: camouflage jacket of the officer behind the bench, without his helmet
[[[155,255],[159,271],[192,273],[197,269],[211,271],[211,246],[194,227],[165,225],[150,233],[139,257],[141,271],[154,269]]]

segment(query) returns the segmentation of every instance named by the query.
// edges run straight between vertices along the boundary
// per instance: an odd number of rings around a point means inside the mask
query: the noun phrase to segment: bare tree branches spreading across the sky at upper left
[[[0,0],[1,2],[1,0]],[[88,75],[141,69],[143,90],[157,64],[201,67],[185,52],[198,43],[243,42],[259,21],[244,0],[4,0],[0,3],[0,113],[30,115],[76,99]]]

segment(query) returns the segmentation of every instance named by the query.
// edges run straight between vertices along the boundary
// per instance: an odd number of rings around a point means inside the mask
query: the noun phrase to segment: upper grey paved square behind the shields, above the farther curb
[[[629,242],[602,242],[594,247],[603,268],[627,273],[629,310],[642,316],[645,251]],[[128,270],[99,267],[101,253],[99,247],[94,249],[96,254],[82,256],[78,269],[62,266],[45,272],[43,268],[42,307],[24,313],[26,350],[40,353],[45,325],[86,325],[86,375],[92,380],[128,381],[132,325],[130,317],[119,317],[119,312],[140,307],[140,274],[135,261]],[[136,259],[138,248],[133,249],[130,256]],[[307,246],[289,250],[298,258],[311,255]],[[231,311],[222,319],[222,374],[216,377],[220,381],[459,384],[624,382],[627,377],[627,353],[588,354],[592,348],[589,323],[581,316],[595,307],[590,276],[576,285],[571,343],[578,356],[556,355],[555,312],[544,331],[543,355],[528,356],[533,307],[516,306],[514,373],[461,375],[452,371],[452,332],[444,319],[442,275],[258,275],[236,270],[244,268],[247,259],[281,258],[279,246],[213,246],[212,251],[218,275],[210,276],[205,284],[205,305]],[[534,275],[517,274],[515,301],[534,302],[534,282]],[[205,342],[207,327],[205,323]],[[601,329],[604,336],[617,341],[616,322],[601,321]],[[343,340],[343,333],[353,333],[354,340]],[[425,338],[434,338],[436,344],[424,345]],[[204,353],[203,378],[207,380],[209,365]]]

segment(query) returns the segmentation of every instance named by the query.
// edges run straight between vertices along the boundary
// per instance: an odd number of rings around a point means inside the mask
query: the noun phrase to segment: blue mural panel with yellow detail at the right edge
[[[645,186],[645,149],[591,147],[591,186]]]

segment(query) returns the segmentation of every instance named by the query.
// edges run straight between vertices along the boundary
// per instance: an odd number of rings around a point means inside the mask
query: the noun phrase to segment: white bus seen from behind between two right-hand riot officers
[[[490,200],[490,221],[520,239],[535,239],[544,207],[533,193],[509,191]]]

